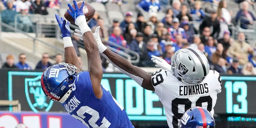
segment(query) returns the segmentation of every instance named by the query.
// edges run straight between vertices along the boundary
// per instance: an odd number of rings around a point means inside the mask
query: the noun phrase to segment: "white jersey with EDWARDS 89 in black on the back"
[[[202,83],[196,85],[184,84],[169,71],[162,69],[154,72],[151,78],[155,94],[164,106],[170,128],[178,128],[178,120],[186,110],[194,106],[201,106],[214,114],[217,94],[221,92],[218,72],[210,70]]]

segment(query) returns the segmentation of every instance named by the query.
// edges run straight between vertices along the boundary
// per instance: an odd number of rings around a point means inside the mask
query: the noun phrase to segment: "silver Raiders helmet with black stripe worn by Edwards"
[[[182,48],[172,56],[172,74],[186,84],[199,84],[209,73],[206,56],[196,48]]]

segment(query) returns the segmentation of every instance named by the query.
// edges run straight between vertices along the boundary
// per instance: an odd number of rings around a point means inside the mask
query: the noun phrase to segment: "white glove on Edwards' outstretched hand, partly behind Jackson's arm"
[[[102,52],[104,52],[107,49],[107,47],[104,44],[102,44],[102,42],[101,42],[99,30],[100,30],[100,26],[98,26],[96,28],[95,32],[93,33],[93,36],[94,36],[94,38],[95,38],[95,40],[96,40],[96,42],[98,44],[99,52],[100,52],[100,54],[102,54]],[[75,29],[75,33],[74,34],[76,36],[78,36],[78,38],[80,40],[83,40],[82,32],[80,30]]]

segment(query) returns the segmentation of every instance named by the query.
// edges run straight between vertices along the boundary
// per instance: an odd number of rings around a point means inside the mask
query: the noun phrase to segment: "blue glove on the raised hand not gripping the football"
[[[60,17],[58,14],[55,14],[56,20],[60,26],[61,30],[61,37],[70,37],[70,28],[69,28],[69,22],[66,23],[66,20],[64,20],[62,17]]]

